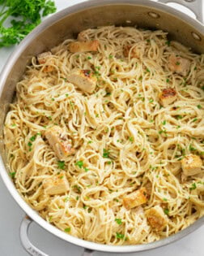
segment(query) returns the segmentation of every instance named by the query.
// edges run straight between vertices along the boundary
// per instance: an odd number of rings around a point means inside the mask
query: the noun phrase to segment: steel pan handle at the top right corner
[[[159,2],[168,3],[176,2],[184,7],[189,8],[196,15],[197,20],[203,23],[203,13],[202,13],[202,0],[159,0]]]

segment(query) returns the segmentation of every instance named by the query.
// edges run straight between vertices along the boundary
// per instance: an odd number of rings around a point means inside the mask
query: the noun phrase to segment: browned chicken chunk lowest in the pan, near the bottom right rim
[[[146,210],[145,215],[151,227],[155,228],[157,231],[163,230],[168,223],[168,218],[164,214],[164,210],[161,206],[155,206]]]

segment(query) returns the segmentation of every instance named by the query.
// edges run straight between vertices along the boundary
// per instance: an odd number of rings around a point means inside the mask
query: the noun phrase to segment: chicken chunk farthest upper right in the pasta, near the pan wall
[[[176,72],[178,74],[181,74],[182,76],[186,76],[187,72],[189,72],[189,67],[189,59],[176,57],[175,54],[171,54],[168,58],[168,68],[172,72]]]

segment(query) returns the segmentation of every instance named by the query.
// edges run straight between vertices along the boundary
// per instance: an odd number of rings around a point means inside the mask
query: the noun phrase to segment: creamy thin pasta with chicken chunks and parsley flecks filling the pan
[[[87,29],[77,45],[33,57],[16,85],[4,128],[10,173],[62,231],[136,245],[202,217],[204,55],[167,36]]]

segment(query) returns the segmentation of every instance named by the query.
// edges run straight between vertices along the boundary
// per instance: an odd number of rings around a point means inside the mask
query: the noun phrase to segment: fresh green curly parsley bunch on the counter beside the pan
[[[0,47],[19,43],[40,24],[41,16],[56,10],[51,0],[0,0]]]

